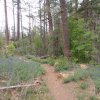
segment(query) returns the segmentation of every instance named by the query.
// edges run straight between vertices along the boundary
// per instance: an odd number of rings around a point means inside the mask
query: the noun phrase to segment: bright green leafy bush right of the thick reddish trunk
[[[71,55],[76,62],[91,60],[92,33],[85,29],[82,18],[69,18],[69,33],[71,42]]]

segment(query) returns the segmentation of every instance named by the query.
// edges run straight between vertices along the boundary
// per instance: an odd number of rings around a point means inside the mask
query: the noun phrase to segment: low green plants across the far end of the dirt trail
[[[39,63],[42,63],[42,64],[49,64],[51,66],[54,66],[55,71],[57,71],[57,72],[66,71],[66,70],[69,70],[69,69],[79,67],[78,64],[69,62],[63,56],[58,57],[58,58],[49,57],[49,58],[46,58],[46,59],[40,59],[39,57],[35,57],[35,56],[26,56],[26,57],[28,59],[32,59],[32,61],[35,61],[35,62],[39,62]]]

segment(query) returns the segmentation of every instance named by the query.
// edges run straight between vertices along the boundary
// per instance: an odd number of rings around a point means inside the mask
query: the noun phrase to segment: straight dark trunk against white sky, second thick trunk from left
[[[20,39],[20,0],[17,0],[17,40]]]

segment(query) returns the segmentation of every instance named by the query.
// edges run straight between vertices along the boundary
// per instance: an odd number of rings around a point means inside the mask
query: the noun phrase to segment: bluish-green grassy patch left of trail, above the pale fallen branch
[[[0,78],[7,79],[8,85],[26,82],[44,73],[39,63],[26,62],[16,57],[0,58]]]

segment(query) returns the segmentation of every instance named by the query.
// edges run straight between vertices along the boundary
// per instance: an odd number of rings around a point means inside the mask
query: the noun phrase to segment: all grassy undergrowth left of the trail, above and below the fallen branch
[[[40,63],[17,57],[0,58],[0,80],[7,81],[3,85],[0,83],[0,86],[33,84],[34,78],[42,74],[44,74],[44,69]],[[0,100],[52,100],[51,98],[42,80],[40,86],[12,89],[0,93]]]

